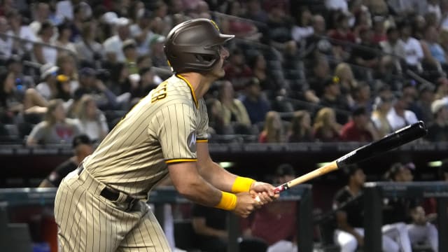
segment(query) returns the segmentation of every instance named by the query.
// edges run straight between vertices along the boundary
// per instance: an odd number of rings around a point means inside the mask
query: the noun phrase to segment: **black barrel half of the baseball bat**
[[[366,144],[365,146],[357,148],[355,151],[351,151],[350,153],[344,155],[337,160],[337,167],[351,165],[368,158],[372,158],[375,155],[385,153],[393,148],[397,148],[398,146],[407,144],[410,141],[419,139],[420,137],[425,136],[427,132],[428,130],[426,130],[426,126],[423,121],[408,125],[400,130],[388,134],[382,139]]]

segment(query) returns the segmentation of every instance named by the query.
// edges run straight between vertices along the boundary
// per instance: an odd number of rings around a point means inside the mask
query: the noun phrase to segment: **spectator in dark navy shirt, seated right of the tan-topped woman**
[[[266,113],[271,109],[271,105],[263,96],[260,81],[257,78],[251,78],[245,84],[244,97],[241,98],[241,102],[246,108],[251,123],[261,123],[265,120]]]

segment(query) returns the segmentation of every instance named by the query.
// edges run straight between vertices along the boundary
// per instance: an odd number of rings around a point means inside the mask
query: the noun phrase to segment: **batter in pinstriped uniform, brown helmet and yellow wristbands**
[[[175,74],[141,99],[59,185],[61,251],[169,251],[146,204],[166,176],[189,200],[242,217],[278,197],[272,185],[230,174],[209,155],[202,97],[225,75],[229,52],[223,43],[233,37],[207,19],[169,32],[165,54]]]

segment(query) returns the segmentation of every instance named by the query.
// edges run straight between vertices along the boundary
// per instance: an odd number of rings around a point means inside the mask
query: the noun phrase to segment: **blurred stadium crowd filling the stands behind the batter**
[[[1,1],[3,142],[95,141],[171,74],[167,31],[216,20],[230,57],[211,141],[448,140],[448,1]],[[57,99],[57,101],[55,101]]]

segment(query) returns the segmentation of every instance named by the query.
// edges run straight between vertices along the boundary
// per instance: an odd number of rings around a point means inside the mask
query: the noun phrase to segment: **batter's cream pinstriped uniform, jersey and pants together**
[[[61,251],[170,251],[146,204],[168,174],[167,164],[197,161],[207,141],[207,108],[181,76],[161,83],[127,113],[57,190],[55,218]],[[120,193],[111,201],[104,188]],[[136,199],[127,209],[125,198]],[[151,200],[150,200],[151,201]]]

